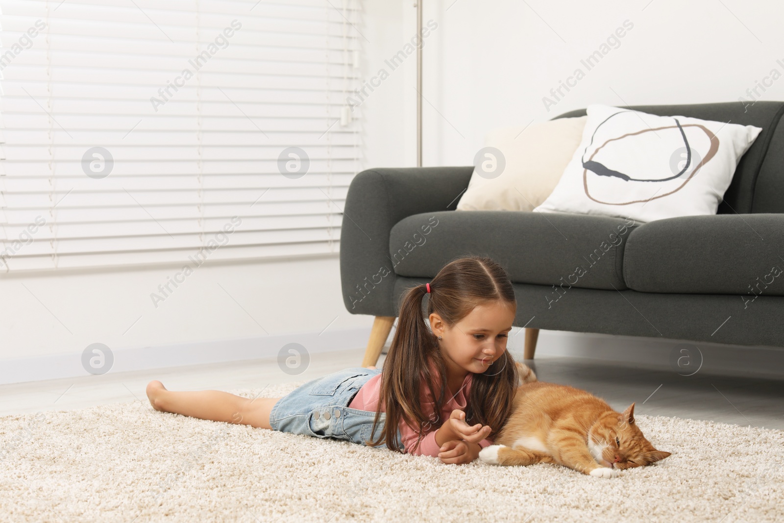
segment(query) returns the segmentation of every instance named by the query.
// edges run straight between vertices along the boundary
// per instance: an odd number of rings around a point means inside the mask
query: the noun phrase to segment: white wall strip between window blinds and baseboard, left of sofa
[[[343,306],[338,266],[336,256],[208,262],[157,307],[150,294],[179,267],[5,276],[0,279],[2,356],[81,351],[90,343],[143,347],[320,332],[332,320],[329,329],[365,325]]]

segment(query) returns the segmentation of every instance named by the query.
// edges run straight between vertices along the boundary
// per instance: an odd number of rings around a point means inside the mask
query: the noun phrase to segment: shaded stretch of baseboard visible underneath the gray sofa
[[[517,331],[517,329],[514,329]],[[510,346],[522,357],[523,336],[514,332]],[[697,350],[692,350],[695,347]],[[686,350],[686,352],[683,352]],[[691,350],[691,353],[689,352]],[[517,354],[517,353],[516,353]],[[561,356],[612,361],[649,369],[670,369],[681,375],[693,370],[727,376],[784,378],[784,348],[728,345],[637,336],[611,336],[592,332],[541,330],[536,357]],[[692,365],[678,365],[679,358]],[[687,362],[685,359],[681,363]]]

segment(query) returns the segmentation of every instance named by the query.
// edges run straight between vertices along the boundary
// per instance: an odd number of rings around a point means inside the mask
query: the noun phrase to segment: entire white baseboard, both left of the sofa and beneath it
[[[517,358],[522,358],[522,329],[515,328],[509,347]],[[394,334],[390,333],[391,336]],[[112,350],[114,363],[109,372],[162,369],[183,365],[201,365],[227,361],[277,358],[286,343],[300,343],[308,353],[316,354],[351,347],[365,347],[370,329],[343,329],[330,332],[305,332],[279,336],[260,336],[239,340],[214,340],[176,343],[154,347],[128,347]],[[389,341],[387,340],[387,346]],[[730,376],[767,376],[784,378],[784,349],[779,347],[746,347],[723,343],[702,343],[683,340],[661,340],[636,336],[610,336],[591,332],[542,330],[536,347],[536,357],[589,358],[622,365],[643,366],[650,369],[671,369],[688,373],[677,367],[680,350],[695,347],[690,355],[699,363],[699,372]],[[673,359],[673,351],[678,353]],[[699,354],[696,361],[695,354]],[[695,367],[697,368],[697,367]],[[0,361],[0,384],[27,381],[55,380],[89,376],[82,367],[82,354],[50,354],[32,358]]]

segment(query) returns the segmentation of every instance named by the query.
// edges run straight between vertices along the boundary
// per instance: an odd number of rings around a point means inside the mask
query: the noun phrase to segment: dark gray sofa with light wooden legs
[[[762,128],[716,215],[630,223],[565,212],[456,212],[472,166],[355,176],[340,277],[347,311],[376,316],[362,365],[379,358],[402,292],[468,254],[490,256],[508,271],[514,325],[526,327],[525,358],[533,358],[538,329],[784,347],[784,102],[629,108]]]

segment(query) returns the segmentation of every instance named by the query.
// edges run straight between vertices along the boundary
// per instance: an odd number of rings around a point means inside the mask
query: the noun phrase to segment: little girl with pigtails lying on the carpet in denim
[[[164,412],[469,463],[512,409],[517,366],[506,340],[516,311],[503,267],[466,256],[402,296],[383,370],[333,372],[283,398],[176,392],[160,381],[147,397]]]

